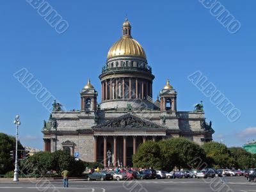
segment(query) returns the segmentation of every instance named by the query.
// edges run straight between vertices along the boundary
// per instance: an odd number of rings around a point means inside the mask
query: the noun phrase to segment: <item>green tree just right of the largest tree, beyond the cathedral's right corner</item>
[[[214,166],[214,168],[234,167],[235,160],[230,156],[230,150],[226,145],[210,141],[205,143],[202,148],[205,150],[209,166]]]

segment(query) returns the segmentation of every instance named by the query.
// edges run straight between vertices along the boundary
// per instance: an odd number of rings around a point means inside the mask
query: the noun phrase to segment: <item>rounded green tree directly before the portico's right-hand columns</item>
[[[136,154],[132,157],[135,167],[142,168],[163,168],[161,160],[161,150],[157,142],[147,141],[141,143],[138,147]]]

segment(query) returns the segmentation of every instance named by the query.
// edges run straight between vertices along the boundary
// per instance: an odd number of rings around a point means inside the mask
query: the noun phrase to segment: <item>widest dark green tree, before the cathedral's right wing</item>
[[[171,138],[159,142],[164,170],[195,168],[205,161],[205,152],[193,141],[186,138]]]

